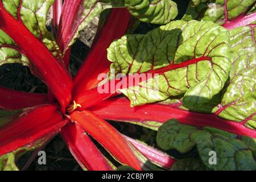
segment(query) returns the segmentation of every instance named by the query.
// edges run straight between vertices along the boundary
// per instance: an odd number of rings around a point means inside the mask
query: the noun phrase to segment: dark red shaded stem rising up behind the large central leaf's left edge
[[[109,71],[111,62],[107,59],[106,49],[115,40],[121,38],[127,30],[130,13],[126,9],[113,9],[105,25],[101,28],[97,41],[94,41],[89,55],[74,78],[73,96],[92,89],[100,81],[100,73]]]

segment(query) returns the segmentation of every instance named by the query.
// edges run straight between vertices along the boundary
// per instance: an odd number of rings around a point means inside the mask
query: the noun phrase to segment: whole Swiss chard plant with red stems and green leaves
[[[18,169],[20,156],[60,133],[88,170],[117,169],[90,137],[137,170],[256,170],[255,2],[192,0],[179,20],[170,0],[1,0],[0,65],[29,67],[48,93],[0,87],[0,169]],[[71,47],[96,16],[72,78]],[[141,22],[162,26],[133,34]],[[162,150],[198,157],[174,159],[110,120],[156,130]]]

